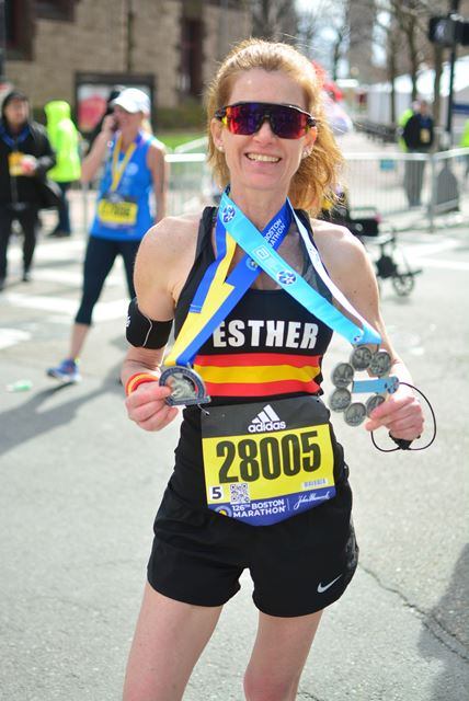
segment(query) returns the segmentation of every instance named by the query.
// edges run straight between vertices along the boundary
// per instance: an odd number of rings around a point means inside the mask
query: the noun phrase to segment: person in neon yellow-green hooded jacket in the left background
[[[72,182],[80,179],[79,133],[70,118],[70,105],[64,100],[48,102],[44,112],[47,117],[47,134],[57,154],[57,164],[48,172],[62,192],[58,206],[58,222],[49,233],[61,238],[71,235],[70,209],[67,192]]]

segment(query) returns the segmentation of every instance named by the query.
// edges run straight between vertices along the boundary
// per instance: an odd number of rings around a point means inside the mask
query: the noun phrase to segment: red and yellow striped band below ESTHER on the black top
[[[317,394],[321,356],[289,353],[197,355],[196,370],[210,397],[270,397],[306,392]]]

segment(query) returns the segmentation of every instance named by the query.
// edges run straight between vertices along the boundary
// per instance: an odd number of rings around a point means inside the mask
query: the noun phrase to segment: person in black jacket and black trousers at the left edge
[[[12,90],[3,100],[0,120],[0,291],[7,278],[7,251],[14,220],[20,222],[24,234],[23,280],[30,280],[41,180],[55,162],[46,130],[30,120],[26,95]]]

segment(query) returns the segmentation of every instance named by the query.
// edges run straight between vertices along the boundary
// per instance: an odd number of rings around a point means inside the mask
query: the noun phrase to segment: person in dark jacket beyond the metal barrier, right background
[[[408,153],[426,153],[433,146],[433,118],[430,115],[428,103],[420,100],[414,114],[405,122],[402,139]],[[405,161],[404,187],[410,207],[421,205],[423,171],[425,160]]]

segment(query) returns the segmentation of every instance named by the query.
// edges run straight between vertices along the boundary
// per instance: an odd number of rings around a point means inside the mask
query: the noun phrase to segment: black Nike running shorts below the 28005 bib
[[[193,508],[169,486],[155,520],[148,582],[167,597],[221,606],[248,567],[253,600],[270,616],[313,613],[339,599],[351,582],[358,548],[348,482],[320,506],[273,526],[249,526]]]

